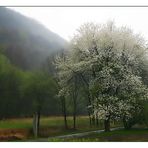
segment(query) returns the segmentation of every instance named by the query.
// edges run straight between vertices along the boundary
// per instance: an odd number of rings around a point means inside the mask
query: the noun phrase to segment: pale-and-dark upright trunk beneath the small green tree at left
[[[33,117],[33,133],[34,133],[35,138],[38,137],[39,126],[40,126],[40,111],[35,112],[34,117]]]

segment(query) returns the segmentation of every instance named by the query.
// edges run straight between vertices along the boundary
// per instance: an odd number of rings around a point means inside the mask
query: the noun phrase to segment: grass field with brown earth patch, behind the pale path
[[[53,137],[103,128],[103,123],[100,123],[99,127],[90,127],[87,116],[77,117],[76,130],[72,129],[72,125],[72,117],[68,117],[68,130],[65,130],[64,128],[63,117],[41,117],[40,137]],[[0,121],[0,141],[9,139],[27,140],[32,138],[32,118],[8,119]]]

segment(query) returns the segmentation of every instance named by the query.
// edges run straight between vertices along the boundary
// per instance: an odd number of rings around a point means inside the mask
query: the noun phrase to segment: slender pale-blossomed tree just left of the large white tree
[[[57,57],[55,61],[58,70],[59,86],[61,88],[59,95],[72,98],[73,101],[73,128],[76,128],[76,112],[77,112],[77,98],[78,98],[78,76],[77,73],[71,69],[71,62],[68,62],[66,56]],[[64,99],[65,100],[65,99]],[[64,101],[64,103],[66,103]],[[64,104],[63,104],[64,105]],[[66,105],[64,105],[66,106]],[[64,120],[66,116],[64,114]],[[66,120],[65,120],[66,121]],[[65,122],[66,126],[66,122]]]

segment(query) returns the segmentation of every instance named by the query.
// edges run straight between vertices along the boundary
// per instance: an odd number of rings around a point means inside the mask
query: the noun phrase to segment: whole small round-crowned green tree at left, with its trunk
[[[25,86],[25,97],[30,98],[34,115],[33,131],[35,137],[39,134],[40,114],[47,99],[53,99],[57,91],[57,86],[51,77],[43,73],[32,73]]]

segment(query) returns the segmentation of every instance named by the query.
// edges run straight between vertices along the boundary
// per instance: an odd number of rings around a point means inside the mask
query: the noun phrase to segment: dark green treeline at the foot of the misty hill
[[[42,115],[62,115],[57,94],[57,80],[47,71],[21,70],[0,53],[0,119],[29,117],[38,108]],[[81,110],[84,103],[79,106],[80,114],[86,114]],[[71,102],[67,106],[70,115]]]

